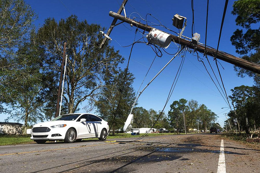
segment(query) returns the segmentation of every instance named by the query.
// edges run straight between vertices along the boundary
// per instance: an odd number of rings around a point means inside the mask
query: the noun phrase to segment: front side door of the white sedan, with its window
[[[80,122],[80,119],[86,119],[86,122]],[[94,127],[92,124],[89,124],[88,122],[90,122],[90,118],[88,114],[81,115],[77,120],[78,127],[79,127],[77,136],[79,138],[91,136],[91,130],[93,131]]]

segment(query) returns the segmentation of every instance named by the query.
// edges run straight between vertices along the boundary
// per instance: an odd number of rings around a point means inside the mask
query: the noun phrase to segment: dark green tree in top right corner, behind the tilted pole
[[[238,0],[233,4],[233,15],[237,15],[236,25],[243,29],[237,29],[231,36],[231,42],[236,47],[236,52],[243,55],[241,58],[260,63],[260,27],[252,29],[252,24],[260,21],[260,1],[259,0]],[[257,75],[249,70],[235,66],[238,76],[250,77]],[[255,82],[259,80],[255,78]]]

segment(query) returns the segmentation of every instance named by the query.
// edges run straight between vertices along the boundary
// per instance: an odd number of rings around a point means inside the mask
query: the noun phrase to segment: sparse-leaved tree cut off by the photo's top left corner
[[[0,112],[10,113],[1,105],[10,102],[5,92],[6,77],[18,80],[14,77],[19,76],[13,75],[12,71],[27,62],[27,59],[17,61],[16,50],[28,40],[27,33],[34,19],[35,13],[23,0],[0,0]]]

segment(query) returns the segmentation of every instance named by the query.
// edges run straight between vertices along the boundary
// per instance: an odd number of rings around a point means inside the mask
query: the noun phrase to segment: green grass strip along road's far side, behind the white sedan
[[[166,136],[166,135],[176,135],[177,133],[149,133],[146,136]],[[178,133],[185,134],[185,133]],[[192,133],[188,133],[192,134]],[[140,135],[133,136],[130,133],[116,133],[115,135],[107,136],[107,140],[116,139],[116,138],[138,138],[142,136]],[[16,145],[16,144],[30,144],[34,143],[33,140],[30,139],[30,135],[4,135],[0,136],[0,146],[3,145]],[[83,140],[97,140],[98,138],[88,138]]]

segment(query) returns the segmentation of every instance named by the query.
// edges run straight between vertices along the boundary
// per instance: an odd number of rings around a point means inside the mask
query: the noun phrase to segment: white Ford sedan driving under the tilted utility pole
[[[64,140],[67,143],[85,138],[106,140],[108,134],[107,121],[88,113],[61,115],[51,121],[38,123],[31,129],[31,139],[38,144],[48,140]]]

